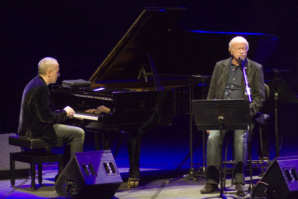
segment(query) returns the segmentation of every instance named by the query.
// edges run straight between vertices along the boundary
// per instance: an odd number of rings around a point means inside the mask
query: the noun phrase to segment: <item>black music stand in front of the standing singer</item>
[[[226,199],[223,189],[223,130],[249,130],[251,124],[249,101],[244,99],[193,100],[192,107],[195,124],[199,131],[220,130],[220,196],[203,199]]]

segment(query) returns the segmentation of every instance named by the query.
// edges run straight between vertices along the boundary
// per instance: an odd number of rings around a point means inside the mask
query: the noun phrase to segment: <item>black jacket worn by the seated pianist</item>
[[[67,119],[65,110],[56,110],[49,87],[37,75],[25,87],[19,116],[19,136],[42,137],[52,146],[57,145],[53,125]]]

